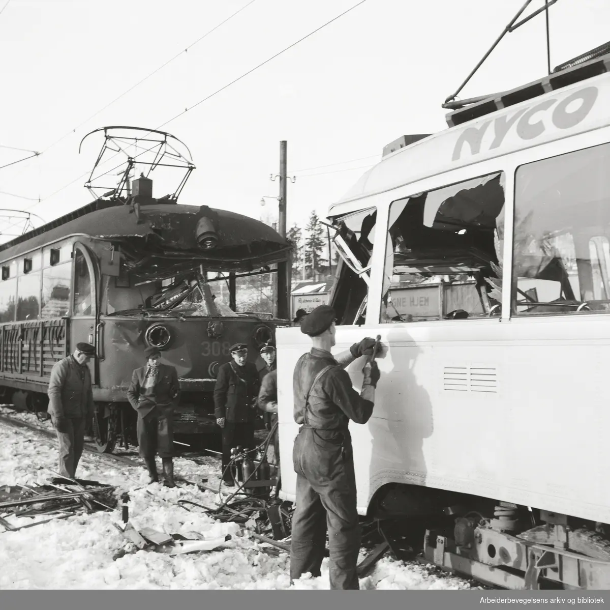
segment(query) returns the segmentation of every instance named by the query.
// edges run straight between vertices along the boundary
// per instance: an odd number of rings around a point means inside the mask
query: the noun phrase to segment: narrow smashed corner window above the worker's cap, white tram
[[[367,271],[375,245],[377,210],[365,210],[344,214],[334,219],[341,242],[335,239],[341,257],[337,266],[337,283],[330,301],[337,313],[337,324],[364,323],[367,297]],[[343,245],[345,244],[345,245]]]

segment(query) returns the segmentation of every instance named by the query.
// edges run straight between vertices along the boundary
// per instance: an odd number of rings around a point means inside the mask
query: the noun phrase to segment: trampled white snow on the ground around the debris
[[[9,410],[0,407],[2,415]],[[12,412],[14,414],[14,412]],[[34,423],[34,416],[12,415]],[[46,427],[46,426],[45,426]],[[139,459],[137,459],[139,460]],[[176,474],[188,481],[207,477],[218,482],[218,460],[174,460]],[[56,442],[32,430],[15,429],[0,422],[0,485],[45,484],[57,470]],[[289,556],[270,556],[260,544],[243,534],[235,523],[219,523],[202,512],[188,512],[179,499],[212,507],[213,492],[195,485],[174,489],[146,485],[142,467],[116,462],[85,452],[77,476],[129,492],[129,519],[136,529],[150,527],[167,534],[198,532],[206,540],[231,534],[223,550],[168,556],[155,551],[128,553],[113,561],[120,549],[133,550],[113,526],[120,508],[111,512],[81,514],[50,521],[17,532],[0,533],[0,589],[328,589],[328,559],[320,578],[303,576],[290,587]],[[198,510],[193,508],[194,511]],[[7,517],[14,526],[49,518]],[[240,535],[243,534],[243,535]],[[364,553],[361,553],[361,559]],[[375,571],[360,581],[361,589],[468,589],[467,581],[436,575],[414,562],[384,558]]]

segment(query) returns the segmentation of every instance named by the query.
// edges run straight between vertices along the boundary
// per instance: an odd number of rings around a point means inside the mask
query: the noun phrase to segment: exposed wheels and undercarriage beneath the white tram
[[[420,561],[492,587],[610,589],[610,526],[603,523],[408,485],[381,490],[371,515],[382,530],[397,518],[406,528],[420,524]]]

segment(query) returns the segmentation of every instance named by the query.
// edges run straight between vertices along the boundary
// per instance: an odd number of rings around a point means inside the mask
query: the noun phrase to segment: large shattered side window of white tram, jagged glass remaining
[[[390,206],[381,322],[487,316],[498,303],[504,174]]]

